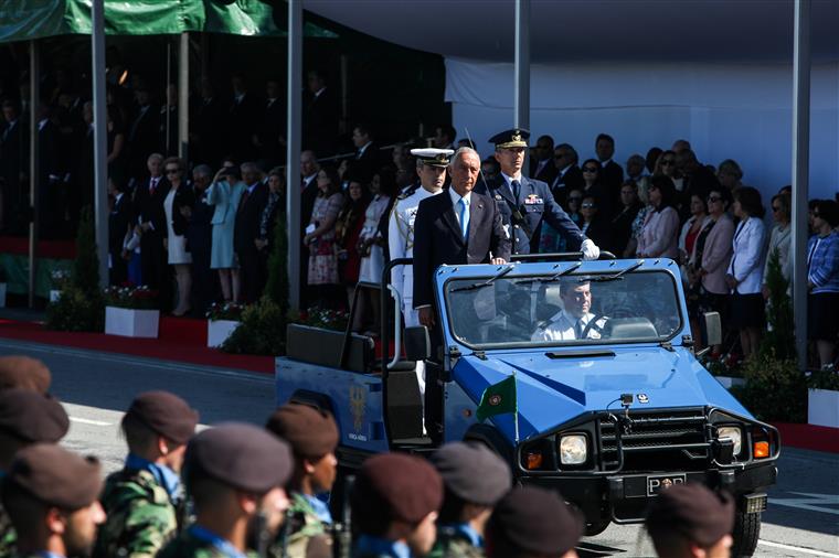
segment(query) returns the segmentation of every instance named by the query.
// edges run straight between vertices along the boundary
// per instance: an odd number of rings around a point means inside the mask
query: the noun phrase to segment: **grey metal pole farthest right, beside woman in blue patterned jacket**
[[[807,200],[810,160],[810,0],[795,0],[793,53],[793,309],[798,366],[807,366]]]

